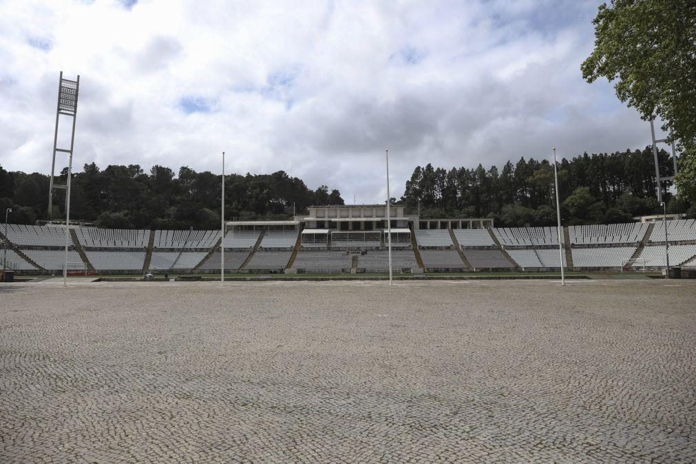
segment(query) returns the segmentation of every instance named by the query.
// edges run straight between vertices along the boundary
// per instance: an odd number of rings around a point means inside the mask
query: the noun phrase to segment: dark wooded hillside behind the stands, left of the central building
[[[65,184],[63,170],[57,184]],[[0,166],[0,207],[14,209],[10,222],[33,224],[47,218],[49,176],[8,173]],[[220,227],[221,176],[186,166],[178,175],[154,166],[145,173],[138,165],[108,166],[100,170],[85,164],[74,173],[71,218],[92,221],[100,227],[150,227],[152,229],[216,229]],[[54,218],[65,218],[65,191],[54,193]],[[343,205],[338,190],[322,185],[310,190],[297,177],[283,171],[267,175],[225,177],[225,217],[285,219],[306,211],[309,205]]]

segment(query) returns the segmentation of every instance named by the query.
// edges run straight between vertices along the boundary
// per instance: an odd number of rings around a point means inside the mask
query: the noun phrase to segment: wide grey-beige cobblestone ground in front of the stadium
[[[0,287],[0,461],[693,462],[696,282]]]

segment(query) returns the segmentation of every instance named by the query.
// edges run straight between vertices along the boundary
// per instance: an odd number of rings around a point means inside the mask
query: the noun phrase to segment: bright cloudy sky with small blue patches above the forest
[[[0,0],[0,164],[49,173],[61,70],[77,169],[219,173],[224,150],[228,172],[378,202],[387,148],[398,197],[427,163],[644,147],[649,125],[580,75],[600,3]]]

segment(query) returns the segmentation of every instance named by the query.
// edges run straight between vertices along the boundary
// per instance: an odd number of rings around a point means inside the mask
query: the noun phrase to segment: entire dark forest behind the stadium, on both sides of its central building
[[[672,159],[659,152],[661,175],[672,175]],[[56,178],[65,184],[67,170]],[[558,163],[561,214],[564,225],[619,223],[633,216],[656,214],[656,180],[651,147],[644,150],[583,154]],[[667,211],[696,216],[690,205],[670,193],[663,182]],[[493,217],[496,225],[556,223],[553,164],[544,159],[508,161],[484,168],[416,167],[404,195],[393,202],[422,218]],[[47,218],[49,176],[0,166],[0,208],[13,208],[11,223],[33,224]],[[186,166],[175,173],[154,166],[85,164],[73,174],[71,220],[99,227],[152,229],[215,229],[220,225],[221,176],[197,173]],[[283,171],[265,175],[228,175],[225,183],[228,219],[285,219],[306,212],[310,205],[343,205],[340,192],[319,186],[311,190]],[[419,205],[420,204],[420,205]],[[65,217],[65,191],[56,190],[54,218]]]

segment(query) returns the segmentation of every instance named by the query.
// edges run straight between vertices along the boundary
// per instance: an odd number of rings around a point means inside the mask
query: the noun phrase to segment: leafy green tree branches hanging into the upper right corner
[[[659,117],[682,152],[677,187],[696,200],[696,7],[693,0],[612,0],[594,18],[583,78],[618,79],[616,95],[643,120]]]

